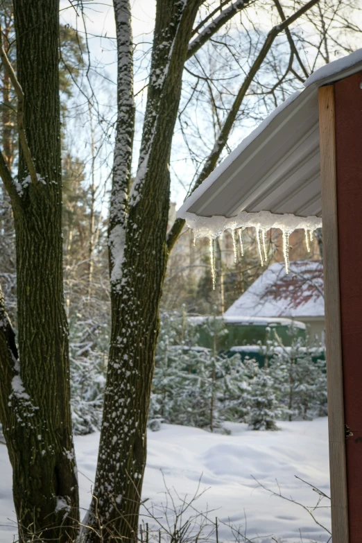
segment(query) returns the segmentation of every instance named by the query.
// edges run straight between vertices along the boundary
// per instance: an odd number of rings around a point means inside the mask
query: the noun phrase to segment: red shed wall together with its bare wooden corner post
[[[333,543],[362,542],[362,72],[319,89]]]

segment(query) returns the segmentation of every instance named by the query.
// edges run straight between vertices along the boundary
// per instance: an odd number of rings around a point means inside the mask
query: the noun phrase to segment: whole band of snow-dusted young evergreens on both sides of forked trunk
[[[75,433],[100,428],[107,365],[107,325],[79,314],[70,319],[71,409]],[[219,352],[227,334],[221,319],[204,323],[206,349],[187,313],[163,313],[157,343],[148,426],[162,422],[225,431],[224,422],[247,422],[255,430],[276,429],[277,420],[327,414],[325,361],[317,346],[293,338],[285,347],[276,335],[260,345],[266,368],[239,353]],[[293,334],[293,329],[290,331]]]

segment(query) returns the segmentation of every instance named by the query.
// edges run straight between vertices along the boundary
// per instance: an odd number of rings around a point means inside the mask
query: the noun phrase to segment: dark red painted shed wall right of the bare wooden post
[[[362,543],[362,72],[338,81],[338,250],[350,543]]]

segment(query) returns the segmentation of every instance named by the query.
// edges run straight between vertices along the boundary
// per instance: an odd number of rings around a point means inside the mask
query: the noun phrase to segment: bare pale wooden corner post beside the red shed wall
[[[334,85],[318,91],[320,130],[320,182],[323,218],[323,266],[325,275],[325,334],[329,426],[329,472],[333,543],[348,543],[347,472],[341,301],[338,261],[336,177],[336,120]]]

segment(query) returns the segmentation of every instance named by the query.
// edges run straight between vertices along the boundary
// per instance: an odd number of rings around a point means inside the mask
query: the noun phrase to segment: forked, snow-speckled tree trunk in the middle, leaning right
[[[128,201],[124,196],[117,199],[117,194],[128,191],[128,173],[120,168],[128,161],[124,154],[121,157],[125,148],[119,144],[121,136],[128,145],[131,137],[125,128],[127,115],[132,116],[131,85],[128,90],[125,88],[124,73],[128,67],[129,78],[132,68],[130,6],[128,1],[114,1],[121,55],[121,122],[117,126],[110,212],[112,336],[94,486],[96,499],[85,522],[102,533],[104,541],[116,535],[137,540],[158,308],[167,261],[169,159],[188,37],[199,3],[157,2],[139,171]],[[126,28],[128,48],[124,43]],[[96,532],[88,531],[86,541],[98,541]]]

